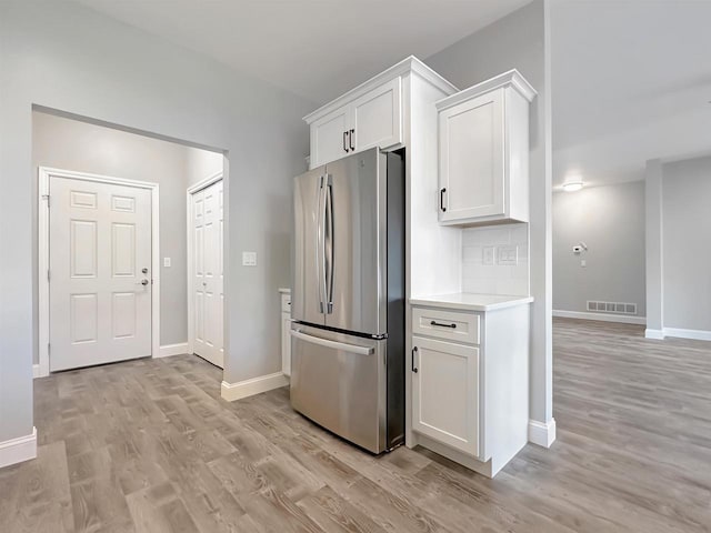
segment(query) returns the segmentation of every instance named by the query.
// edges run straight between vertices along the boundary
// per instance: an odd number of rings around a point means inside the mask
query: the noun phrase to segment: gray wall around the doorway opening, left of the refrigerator
[[[0,442],[32,432],[32,104],[227,151],[224,379],[277,372],[283,207],[314,105],[73,2],[0,2]]]

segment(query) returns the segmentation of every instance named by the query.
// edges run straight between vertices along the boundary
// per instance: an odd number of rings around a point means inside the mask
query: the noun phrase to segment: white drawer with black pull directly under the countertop
[[[479,315],[441,309],[412,309],[412,333],[479,344]]]

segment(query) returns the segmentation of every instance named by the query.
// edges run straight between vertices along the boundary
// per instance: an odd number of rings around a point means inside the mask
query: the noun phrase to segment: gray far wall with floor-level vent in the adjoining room
[[[575,255],[580,241],[589,250]],[[644,316],[644,278],[643,181],[553,194],[553,309],[603,300],[637,303]]]

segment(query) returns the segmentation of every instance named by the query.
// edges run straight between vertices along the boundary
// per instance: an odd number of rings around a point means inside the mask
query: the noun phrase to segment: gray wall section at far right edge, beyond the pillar
[[[711,332],[711,157],[662,172],[663,325]]]

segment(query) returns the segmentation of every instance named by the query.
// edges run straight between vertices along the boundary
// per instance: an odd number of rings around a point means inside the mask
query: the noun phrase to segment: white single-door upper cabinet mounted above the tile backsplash
[[[440,223],[528,222],[534,97],[512,70],[437,102]]]

